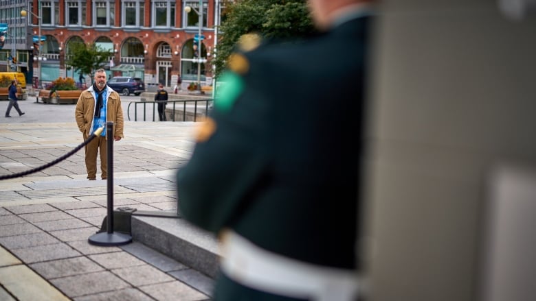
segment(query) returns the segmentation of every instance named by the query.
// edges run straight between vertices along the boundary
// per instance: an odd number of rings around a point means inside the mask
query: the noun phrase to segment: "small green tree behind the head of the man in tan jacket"
[[[104,68],[109,64],[110,56],[110,51],[95,44],[71,43],[67,49],[65,64],[71,66],[78,73],[91,75],[91,83],[93,84],[93,74],[97,69]]]

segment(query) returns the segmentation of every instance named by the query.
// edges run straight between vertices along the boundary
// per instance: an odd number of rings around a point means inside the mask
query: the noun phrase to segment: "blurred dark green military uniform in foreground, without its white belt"
[[[315,38],[230,58],[225,91],[177,173],[186,219],[284,258],[359,268],[367,24],[354,12]],[[226,274],[214,292],[215,300],[295,300],[282,295]]]

